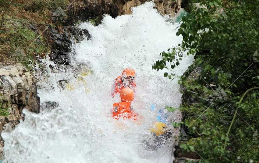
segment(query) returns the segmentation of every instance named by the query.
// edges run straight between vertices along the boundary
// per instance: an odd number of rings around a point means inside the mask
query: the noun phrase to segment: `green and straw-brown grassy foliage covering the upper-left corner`
[[[51,22],[52,12],[58,6],[65,8],[68,4],[68,0],[0,1],[0,62],[20,62],[32,70],[36,56],[50,52],[46,33],[48,25],[55,26]],[[13,59],[20,47],[26,55]]]

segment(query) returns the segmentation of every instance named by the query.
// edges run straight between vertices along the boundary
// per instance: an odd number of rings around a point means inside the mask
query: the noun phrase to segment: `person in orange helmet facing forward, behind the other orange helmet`
[[[114,97],[115,94],[120,93],[121,90],[125,87],[129,87],[131,89],[136,87],[135,75],[136,75],[136,72],[132,68],[124,69],[122,71],[122,75],[118,76],[115,79],[115,82],[113,84],[113,89],[112,89],[112,97]]]

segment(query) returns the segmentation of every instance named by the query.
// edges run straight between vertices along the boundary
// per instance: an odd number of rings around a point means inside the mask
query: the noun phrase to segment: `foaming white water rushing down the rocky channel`
[[[59,107],[41,114],[26,114],[14,131],[2,133],[5,141],[4,163],[158,163],[169,162],[172,142],[151,151],[142,140],[151,137],[148,130],[156,120],[151,104],[179,107],[181,93],[178,80],[163,77],[163,71],[151,69],[159,53],[181,42],[176,36],[179,24],[170,24],[153,9],[153,3],[133,8],[132,15],[106,15],[102,24],[94,27],[83,23],[81,28],[91,38],[74,44],[76,55],[72,65],[87,63],[93,75],[78,84],[74,69],[47,70],[38,90],[41,102],[56,101]],[[193,56],[184,56],[175,73],[182,75]],[[45,64],[52,64],[43,59]],[[142,116],[140,124],[132,120],[115,120],[107,114],[119,97],[111,97],[111,87],[126,67],[136,70],[135,100],[133,108]],[[62,90],[58,80],[69,79],[74,90]],[[52,87],[52,88],[51,88]],[[86,88],[87,87],[87,88]],[[86,92],[86,89],[89,91]],[[172,120],[176,114],[172,114]]]

